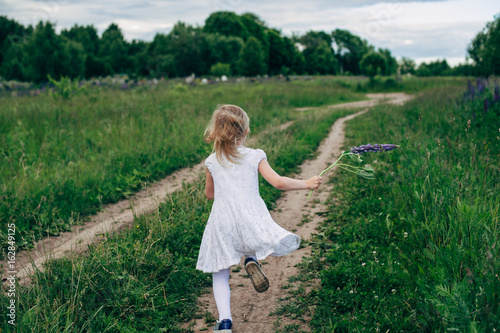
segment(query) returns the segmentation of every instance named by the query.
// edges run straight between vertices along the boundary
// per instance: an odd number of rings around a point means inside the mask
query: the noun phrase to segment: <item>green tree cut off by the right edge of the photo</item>
[[[500,74],[500,14],[474,37],[467,47],[467,52],[479,74]]]

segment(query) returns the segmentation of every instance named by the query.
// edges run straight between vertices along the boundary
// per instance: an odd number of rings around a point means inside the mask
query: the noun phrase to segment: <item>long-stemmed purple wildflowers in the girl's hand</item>
[[[322,176],[325,172],[327,172],[328,170],[330,170],[334,166],[337,166],[343,170],[355,173],[358,176],[363,177],[365,179],[374,179],[375,178],[374,177],[375,170],[373,170],[373,168],[370,166],[359,167],[359,166],[354,166],[354,165],[350,165],[350,164],[342,164],[342,163],[339,164],[338,162],[342,159],[342,157],[349,156],[353,161],[361,163],[361,162],[363,162],[361,155],[363,155],[364,153],[389,151],[389,150],[393,150],[396,147],[399,147],[399,146],[394,145],[394,144],[375,144],[375,145],[372,145],[371,143],[369,143],[367,145],[361,145],[359,147],[353,147],[353,148],[351,148],[351,151],[342,152],[340,157],[332,165],[330,165],[328,168],[323,170],[319,175]],[[309,193],[309,196],[307,197],[308,199],[311,197],[312,192],[313,192],[313,190],[311,190],[311,192]]]

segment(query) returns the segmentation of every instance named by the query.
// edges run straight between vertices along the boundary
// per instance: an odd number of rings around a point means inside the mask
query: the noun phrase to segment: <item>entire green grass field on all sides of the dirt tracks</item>
[[[484,96],[463,101],[464,79],[386,82],[165,83],[151,90],[89,89],[68,101],[6,98],[1,218],[24,225],[21,244],[27,246],[28,236],[59,232],[58,223],[72,216],[77,223],[142,182],[201,161],[210,151],[201,135],[217,103],[244,107],[255,135],[296,120],[256,144],[278,172],[291,174],[314,154],[333,121],[348,113],[291,108],[384,89],[422,92],[405,107],[381,106],[350,122],[348,146],[392,142],[401,148],[366,156],[377,170],[375,181],[337,174],[336,199],[312,242],[315,256],[298,277],[321,278],[321,288],[309,294],[299,288],[296,306],[282,314],[310,312],[317,332],[488,331],[499,318],[500,134],[494,127],[500,105],[486,113]],[[154,214],[138,217],[130,231],[104,236],[85,255],[50,261],[30,286],[18,286],[17,332],[182,332],[179,323],[195,315],[200,288],[210,284],[209,275],[194,269],[210,212],[203,184],[200,177],[185,185]],[[269,207],[279,196],[264,182],[261,194]],[[51,200],[41,199],[48,195]],[[7,301],[2,294],[0,302]]]

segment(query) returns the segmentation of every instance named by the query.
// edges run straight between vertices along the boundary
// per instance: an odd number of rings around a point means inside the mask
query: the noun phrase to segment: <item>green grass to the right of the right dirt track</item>
[[[313,316],[314,332],[493,332],[500,329],[500,104],[433,89],[403,107],[351,121],[346,148],[375,181],[338,172],[326,221],[281,315]],[[468,127],[468,120],[471,126]]]

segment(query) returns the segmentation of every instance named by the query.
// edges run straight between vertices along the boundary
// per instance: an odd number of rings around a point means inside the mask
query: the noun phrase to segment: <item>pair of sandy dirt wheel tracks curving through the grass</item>
[[[380,101],[385,101],[387,103],[393,104],[402,104],[410,98],[409,95],[406,95],[404,93],[369,94],[367,95],[367,97],[369,97],[370,100],[338,104],[329,106],[328,108],[338,109],[371,107]],[[307,108],[297,109],[297,111],[306,110]],[[354,115],[349,117],[352,118],[353,116]],[[306,164],[302,166],[304,175],[314,175],[319,173],[323,169],[323,167],[326,166],[327,162],[331,160],[330,157],[332,156],[332,154],[338,155],[338,152],[340,151],[339,149],[342,144],[341,142],[343,141],[343,132],[341,131],[341,127],[343,126],[343,122],[351,119],[349,117],[343,118],[343,120],[339,119],[334,124],[330,136],[320,147],[320,151],[322,152],[321,155],[316,160],[306,162]],[[289,123],[285,124],[285,126],[287,125],[289,125]],[[21,283],[28,281],[29,275],[33,272],[34,267],[43,268],[43,263],[49,258],[61,258],[68,253],[85,251],[88,248],[89,244],[98,239],[99,235],[106,232],[120,231],[129,227],[134,221],[134,215],[138,216],[141,214],[153,212],[169,194],[179,189],[183,182],[194,181],[198,177],[199,173],[203,172],[203,170],[203,163],[200,163],[193,168],[179,170],[174,174],[164,178],[160,182],[151,184],[145,190],[137,192],[130,199],[126,199],[106,206],[102,212],[92,216],[90,222],[85,223],[85,225],[83,226],[76,226],[74,228],[75,230],[73,230],[72,232],[62,233],[58,237],[48,237],[42,239],[35,244],[35,248],[33,250],[18,253],[17,264],[18,267],[22,267],[18,270],[18,281],[20,281]],[[327,191],[324,191],[324,193],[327,193]],[[298,222],[300,222],[299,220],[297,220],[298,216],[302,216],[301,214],[306,214],[305,212],[301,213],[301,207],[307,202],[304,198],[304,195],[306,195],[305,192],[287,193],[287,195],[278,203],[278,208],[281,208],[283,213],[278,215],[275,214],[274,217],[276,218],[276,221],[278,223],[286,228],[297,228],[297,233],[301,237],[305,237],[305,239],[307,239],[310,233],[314,230],[314,225],[312,224],[312,222],[304,225],[300,229],[295,226]],[[318,194],[315,195],[317,196]],[[293,213],[291,214],[289,213],[292,212],[290,208],[293,208]],[[260,323],[266,320],[267,314],[262,317],[262,314],[265,311],[261,307],[261,304],[266,303],[270,306],[270,308],[274,306],[274,300],[276,299],[276,297],[271,296],[277,295],[279,293],[280,289],[278,288],[278,286],[286,282],[286,278],[293,274],[293,266],[300,261],[300,258],[305,254],[305,251],[306,250],[300,250],[296,254],[294,254],[293,257],[290,256],[283,259],[278,259],[282,261],[279,266],[281,268],[275,273],[271,271],[269,272],[269,278],[272,281],[272,287],[266,294],[258,295],[264,298],[254,299],[252,301],[255,302],[251,303],[251,300],[247,297],[248,293],[245,293],[248,292],[248,289],[246,287],[240,288],[242,289],[241,295],[237,293],[238,289],[235,289],[233,304],[236,322],[243,322],[243,320],[239,320],[243,318],[246,318],[249,321],[250,318],[252,318],[252,322],[255,320]],[[4,265],[3,267],[6,267],[5,262],[1,262],[1,264]],[[274,267],[275,262],[270,261],[269,266]],[[236,279],[234,278],[231,280],[232,284],[235,284],[235,280]],[[241,309],[241,311],[238,310],[238,300],[247,304],[245,309]],[[248,305],[250,303],[255,304],[255,306]],[[216,311],[214,311],[213,309],[213,306],[211,308],[211,311],[214,314],[216,313]],[[246,313],[245,311],[247,311],[248,313]],[[255,314],[257,313],[258,316],[255,316]],[[240,331],[236,330],[235,332],[250,331],[253,330],[244,329]],[[266,330],[262,330],[262,332],[267,332],[267,328]]]

